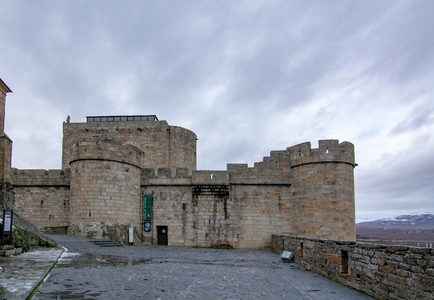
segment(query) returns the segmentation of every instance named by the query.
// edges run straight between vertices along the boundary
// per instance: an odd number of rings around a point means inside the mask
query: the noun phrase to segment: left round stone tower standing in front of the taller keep
[[[130,225],[140,228],[143,151],[114,140],[76,143],[71,151],[68,233],[128,242]],[[126,231],[125,231],[126,229]],[[117,234],[116,234],[117,233]]]

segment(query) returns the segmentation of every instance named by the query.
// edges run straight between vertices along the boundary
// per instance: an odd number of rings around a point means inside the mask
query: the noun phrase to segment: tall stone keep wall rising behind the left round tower
[[[196,134],[166,121],[64,123],[62,169],[69,168],[76,143],[112,140],[144,151],[140,167],[196,169]]]

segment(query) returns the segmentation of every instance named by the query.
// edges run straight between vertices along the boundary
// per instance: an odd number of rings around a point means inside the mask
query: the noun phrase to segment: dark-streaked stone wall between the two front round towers
[[[146,240],[155,243],[155,226],[168,226],[173,246],[269,248],[271,234],[290,226],[288,185],[230,185],[225,171],[196,171],[189,178],[152,174],[142,179],[142,193],[154,200]]]

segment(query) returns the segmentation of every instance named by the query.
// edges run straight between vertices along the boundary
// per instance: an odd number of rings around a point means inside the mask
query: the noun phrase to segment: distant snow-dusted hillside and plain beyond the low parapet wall
[[[434,214],[412,214],[356,224],[359,242],[433,247]]]

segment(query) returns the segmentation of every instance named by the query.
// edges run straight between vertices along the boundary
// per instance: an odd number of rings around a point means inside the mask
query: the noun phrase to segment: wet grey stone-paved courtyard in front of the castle
[[[67,248],[33,299],[371,299],[284,263],[266,250],[99,247],[49,235]]]

